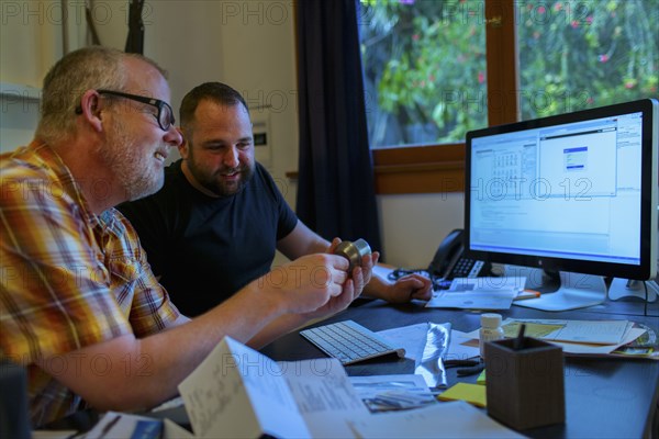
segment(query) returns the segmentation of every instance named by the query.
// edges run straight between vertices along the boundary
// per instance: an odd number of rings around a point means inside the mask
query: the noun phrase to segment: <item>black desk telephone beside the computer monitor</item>
[[[428,273],[433,279],[450,281],[454,278],[476,278],[491,275],[491,263],[466,258],[465,232],[456,228],[439,244],[433,261],[428,266]]]

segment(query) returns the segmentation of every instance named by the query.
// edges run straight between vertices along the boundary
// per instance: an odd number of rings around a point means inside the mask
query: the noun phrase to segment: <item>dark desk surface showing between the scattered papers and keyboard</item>
[[[643,304],[638,302],[605,302],[600,306],[562,313],[512,306],[501,314],[504,318],[629,319],[657,330],[657,304],[650,305],[648,317],[643,316]],[[425,308],[422,303],[394,306],[382,301],[361,301],[319,325],[353,319],[378,331],[423,322],[449,322],[454,329],[471,331],[480,326],[479,316],[480,313],[473,312]],[[261,352],[282,361],[324,356],[297,333],[266,346]],[[414,362],[409,359],[376,359],[347,365],[346,371],[349,375],[414,373]],[[458,381],[473,383],[477,378],[458,379],[455,369],[448,369],[447,376],[449,385]],[[565,384],[566,423],[524,430],[524,435],[537,438],[649,438],[651,431],[657,431],[657,425],[652,426],[652,423],[658,420],[659,362],[566,358]]]

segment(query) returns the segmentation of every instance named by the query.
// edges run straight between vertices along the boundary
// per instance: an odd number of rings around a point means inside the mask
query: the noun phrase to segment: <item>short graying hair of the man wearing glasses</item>
[[[82,94],[96,89],[122,90],[129,79],[126,58],[142,59],[167,77],[155,61],[138,54],[125,54],[103,46],[71,52],[58,60],[44,78],[41,120],[35,136],[55,144],[74,135],[76,108],[80,105]]]

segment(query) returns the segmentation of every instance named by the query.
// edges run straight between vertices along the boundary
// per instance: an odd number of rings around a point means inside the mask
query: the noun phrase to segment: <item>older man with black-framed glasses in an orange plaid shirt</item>
[[[163,185],[181,143],[169,97],[147,58],[70,53],[44,79],[34,140],[0,156],[0,356],[27,369],[34,426],[83,403],[155,406],[224,336],[259,347],[345,308],[370,278],[377,254],[349,277],[345,258],[315,254],[181,315],[113,209]]]

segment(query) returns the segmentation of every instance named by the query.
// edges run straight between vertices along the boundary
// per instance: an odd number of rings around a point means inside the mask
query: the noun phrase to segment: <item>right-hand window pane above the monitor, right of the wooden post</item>
[[[650,0],[516,3],[522,119],[656,97],[657,5]]]

